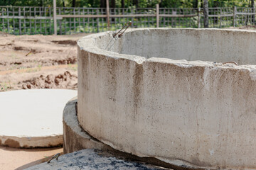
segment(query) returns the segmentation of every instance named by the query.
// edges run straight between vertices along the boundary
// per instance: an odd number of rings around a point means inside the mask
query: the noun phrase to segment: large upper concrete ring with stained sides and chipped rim
[[[127,30],[111,47],[112,32],[82,38],[80,125],[139,157],[255,169],[256,67],[218,63],[254,64],[255,40],[253,31],[192,28]]]

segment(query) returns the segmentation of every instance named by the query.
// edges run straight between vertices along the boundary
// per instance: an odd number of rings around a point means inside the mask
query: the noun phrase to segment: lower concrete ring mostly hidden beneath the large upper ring
[[[159,159],[151,157],[137,157],[133,154],[120,152],[103,142],[95,139],[83,130],[78,123],[78,116],[75,111],[75,103],[77,98],[72,98],[65,106],[63,111],[63,150],[64,154],[75,152],[81,149],[100,149],[108,152],[115,157],[124,157],[125,159],[137,160],[139,162],[147,162],[156,166],[162,166],[169,169],[178,169],[177,166],[159,161]]]

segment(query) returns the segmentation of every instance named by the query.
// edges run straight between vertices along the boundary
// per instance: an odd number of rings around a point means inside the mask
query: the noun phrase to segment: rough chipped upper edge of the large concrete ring
[[[193,31],[201,31],[204,30],[206,33],[208,31],[215,30],[216,32],[221,33],[256,33],[255,30],[239,30],[239,29],[218,29],[218,28],[129,28],[126,30],[124,35],[127,33],[136,33],[139,31],[154,31],[154,30],[193,30]],[[221,69],[242,69],[247,70],[250,73],[250,77],[252,80],[256,80],[256,67],[251,64],[223,64],[222,62],[210,62],[210,61],[201,61],[201,60],[172,60],[165,57],[150,57],[146,59],[146,57],[142,57],[139,55],[127,55],[120,54],[117,52],[113,52],[110,50],[102,49],[97,44],[97,40],[102,39],[103,37],[107,38],[107,42],[111,42],[112,35],[115,33],[114,31],[107,31],[102,33],[95,33],[86,35],[85,37],[80,38],[78,40],[78,52],[84,51],[89,52],[93,55],[102,55],[106,58],[113,58],[114,60],[129,60],[136,62],[137,64],[143,64],[144,62],[161,62],[161,63],[169,63],[174,64],[178,67],[206,67],[206,68],[221,68]],[[118,40],[119,38],[117,38]],[[107,45],[107,43],[105,44]]]

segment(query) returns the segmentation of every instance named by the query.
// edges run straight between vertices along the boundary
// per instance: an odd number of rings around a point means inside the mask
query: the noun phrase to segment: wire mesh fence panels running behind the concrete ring
[[[200,28],[201,8],[56,8],[57,32],[98,33],[117,30],[132,21],[132,28]],[[255,26],[255,8],[209,8],[210,28]],[[157,19],[159,18],[159,20]],[[54,33],[53,8],[0,6],[0,31],[14,35]]]

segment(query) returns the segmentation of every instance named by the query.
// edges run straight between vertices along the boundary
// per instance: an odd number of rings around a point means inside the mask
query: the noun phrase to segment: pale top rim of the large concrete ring
[[[215,31],[225,31],[225,32],[230,32],[230,33],[235,33],[235,32],[240,32],[240,33],[256,33],[256,30],[240,30],[240,29],[218,29],[218,28],[129,28],[125,31],[124,35],[127,33],[132,33],[132,32],[137,32],[137,31],[143,31],[143,30],[215,30]],[[170,63],[170,64],[181,64],[178,66],[190,66],[190,67],[202,67],[202,66],[208,66],[208,67],[223,67],[223,68],[232,68],[232,69],[239,69],[241,66],[247,65],[247,68],[250,68],[250,66],[254,66],[255,64],[241,64],[241,65],[235,65],[236,67],[228,67],[228,65],[215,65],[217,62],[212,62],[212,61],[204,61],[204,60],[173,60],[169,59],[166,57],[149,57],[146,59],[146,57],[139,56],[139,55],[127,55],[127,54],[122,54],[118,52],[112,52],[109,50],[103,50],[100,47],[97,47],[96,45],[96,38],[101,38],[103,36],[111,36],[113,33],[117,31],[107,31],[107,32],[102,32],[102,33],[96,33],[96,34],[91,34],[91,35],[86,35],[83,38],[80,38],[78,40],[78,47],[80,47],[80,50],[83,50],[85,52],[90,52],[95,55],[104,55],[105,57],[111,57],[114,59],[124,59],[124,60],[131,60],[134,62],[137,62],[137,64],[142,64],[144,61],[154,61],[154,62],[164,62],[164,63]],[[123,35],[123,36],[124,36]],[[123,37],[122,36],[122,37]],[[121,37],[121,38],[122,38]],[[164,61],[161,61],[163,60]],[[218,62],[221,63],[221,62]],[[227,63],[227,62],[226,62]],[[238,68],[239,67],[239,68]],[[255,69],[250,68],[250,69]]]

